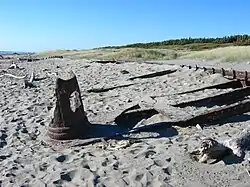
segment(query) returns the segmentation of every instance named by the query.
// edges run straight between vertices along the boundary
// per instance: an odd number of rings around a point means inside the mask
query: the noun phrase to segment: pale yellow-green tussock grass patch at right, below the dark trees
[[[181,59],[219,60],[222,62],[242,62],[250,60],[250,46],[232,46],[205,51],[190,52]]]

